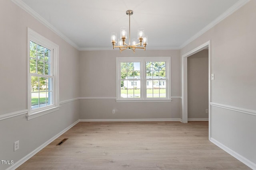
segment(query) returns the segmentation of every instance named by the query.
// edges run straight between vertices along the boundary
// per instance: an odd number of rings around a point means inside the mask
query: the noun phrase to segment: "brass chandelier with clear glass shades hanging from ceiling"
[[[144,35],[144,29],[139,28],[138,29],[138,40],[139,43],[137,43],[137,39],[132,39],[132,42],[130,41],[130,16],[133,14],[132,10],[127,10],[126,15],[129,16],[129,44],[125,43],[125,40],[127,39],[127,29],[126,27],[120,28],[120,39],[117,40],[117,34],[111,33],[111,43],[113,45],[113,49],[115,47],[118,47],[120,49],[120,53],[126,49],[131,49],[133,53],[135,53],[135,49],[144,49],[146,50],[146,46],[148,44],[148,35]],[[116,46],[116,43],[118,43],[118,46]],[[138,45],[143,47],[138,47]]]

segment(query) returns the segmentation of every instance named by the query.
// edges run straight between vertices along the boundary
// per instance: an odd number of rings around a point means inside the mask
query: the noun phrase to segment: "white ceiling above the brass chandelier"
[[[246,0],[13,0],[80,50],[112,49],[110,33],[143,27],[147,49],[179,49]],[[39,16],[38,16],[39,14]]]

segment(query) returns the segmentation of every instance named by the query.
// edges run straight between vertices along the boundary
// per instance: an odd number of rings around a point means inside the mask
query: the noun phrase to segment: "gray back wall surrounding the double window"
[[[80,97],[116,97],[116,57],[171,57],[172,96],[180,94],[179,50],[80,51]],[[116,103],[113,99],[80,100],[80,119],[180,118],[180,99],[172,102]],[[116,113],[112,114],[112,109]]]

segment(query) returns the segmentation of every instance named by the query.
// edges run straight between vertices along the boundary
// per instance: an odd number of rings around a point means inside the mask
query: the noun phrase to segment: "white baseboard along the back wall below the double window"
[[[180,118],[166,119],[79,119],[79,121],[181,121]]]

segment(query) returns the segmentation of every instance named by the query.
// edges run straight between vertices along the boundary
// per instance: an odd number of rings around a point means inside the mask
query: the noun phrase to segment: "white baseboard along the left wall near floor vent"
[[[52,137],[51,139],[49,139],[48,141],[46,141],[44,144],[42,144],[40,147],[36,148],[35,150],[33,150],[32,152],[30,152],[29,154],[27,154],[26,156],[24,156],[23,158],[21,158],[20,160],[18,160],[17,162],[15,162],[12,166],[10,166],[9,168],[7,168],[6,170],[14,170],[16,168],[18,168],[20,165],[22,165],[24,162],[26,162],[29,158],[31,158],[32,156],[34,156],[37,152],[39,152],[40,150],[44,149],[44,147],[46,147],[47,145],[49,145],[52,141],[54,141],[55,139],[57,139],[58,137],[60,137],[60,135],[62,135],[63,133],[65,133],[66,131],[68,131],[71,127],[73,127],[74,125],[76,125],[76,123],[78,123],[79,120],[75,121],[74,123],[72,123],[71,125],[69,125],[67,128],[65,128],[63,131],[61,131],[60,133],[58,133],[57,135],[55,135],[54,137]]]

